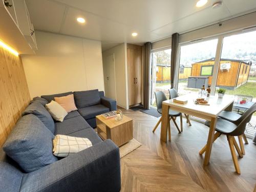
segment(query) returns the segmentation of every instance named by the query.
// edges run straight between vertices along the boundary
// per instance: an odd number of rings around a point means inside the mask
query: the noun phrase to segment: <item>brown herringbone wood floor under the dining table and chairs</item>
[[[205,145],[208,127],[183,118],[183,133],[172,129],[172,141],[160,142],[160,125],[152,133],[158,118],[123,110],[134,119],[134,138],[142,143],[134,152],[121,159],[121,191],[253,191],[256,183],[256,145],[245,145],[239,158],[241,175],[237,175],[228,142],[221,136],[212,146],[210,163],[203,167],[198,153]],[[179,124],[179,120],[177,120]]]

